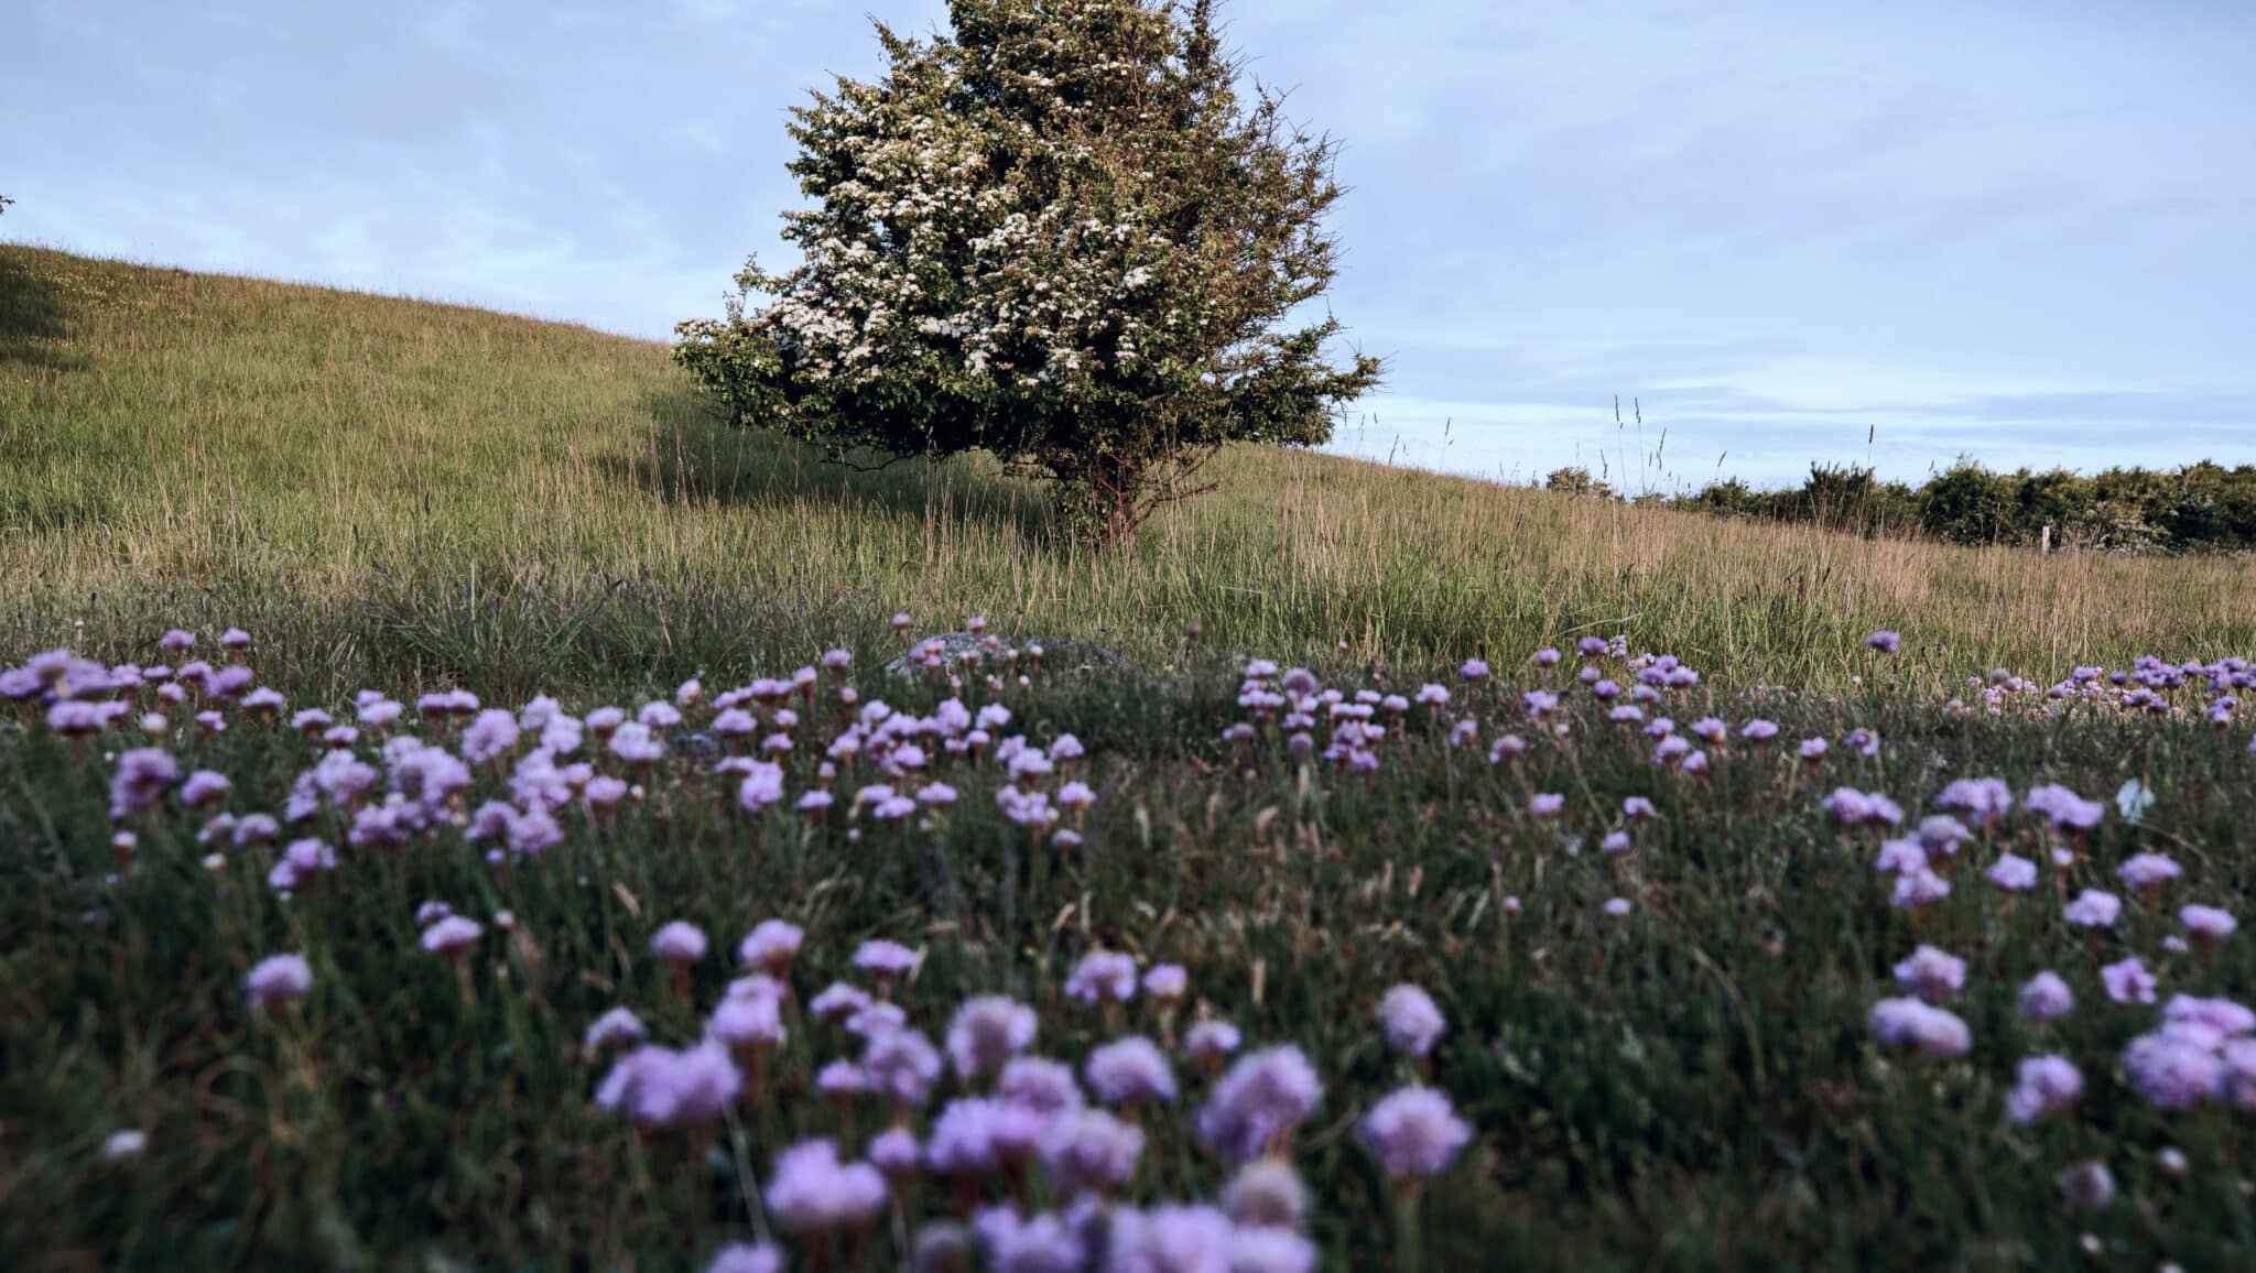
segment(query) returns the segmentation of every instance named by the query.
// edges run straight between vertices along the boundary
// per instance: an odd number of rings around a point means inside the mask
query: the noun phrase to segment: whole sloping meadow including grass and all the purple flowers
[[[1105,560],[656,345],[0,300],[0,1264],[2249,1264],[2247,562],[1257,449]]]

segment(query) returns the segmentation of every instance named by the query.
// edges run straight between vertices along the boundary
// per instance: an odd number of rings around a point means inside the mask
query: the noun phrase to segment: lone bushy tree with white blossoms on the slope
[[[1078,535],[1209,490],[1225,442],[1313,445],[1378,359],[1333,366],[1320,219],[1338,144],[1239,93],[1211,0],[950,0],[882,23],[878,84],[792,108],[803,264],[749,260],[675,357],[740,424],[848,454],[997,454]],[[754,305],[754,293],[765,305]]]

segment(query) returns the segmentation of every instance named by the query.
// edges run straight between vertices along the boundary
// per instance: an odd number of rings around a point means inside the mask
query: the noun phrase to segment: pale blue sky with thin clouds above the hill
[[[938,0],[0,14],[0,237],[641,336]],[[1627,485],[2256,460],[2256,5],[1234,0],[1345,140],[1336,447]],[[1613,395],[1642,402],[1642,454]],[[1870,442],[1868,442],[1870,438]]]

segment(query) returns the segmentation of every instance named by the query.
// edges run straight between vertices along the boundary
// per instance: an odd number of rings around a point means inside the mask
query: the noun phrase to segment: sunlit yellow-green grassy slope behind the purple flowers
[[[666,684],[882,641],[893,609],[1144,661],[1191,625],[1385,664],[1629,632],[1798,684],[1843,679],[1872,627],[1936,677],[2256,632],[2240,560],[1866,542],[1275,449],[1096,560],[990,465],[851,474],[726,429],[656,343],[20,246],[0,460],[0,643],[144,657],[169,623],[241,623],[305,688]]]

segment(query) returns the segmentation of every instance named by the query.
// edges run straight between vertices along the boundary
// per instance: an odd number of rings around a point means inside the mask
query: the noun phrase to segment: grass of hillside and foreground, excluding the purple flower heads
[[[548,691],[584,711],[848,646],[864,700],[929,711],[941,686],[873,670],[898,648],[893,609],[925,627],[986,612],[1135,661],[1038,670],[1029,688],[963,677],[975,706],[1008,702],[1008,731],[1090,745],[1081,776],[1103,794],[1083,849],[1008,826],[993,763],[936,761],[963,801],[927,833],[844,810],[751,817],[731,781],[670,758],[636,774],[645,794],[614,819],[566,808],[566,842],[510,869],[451,824],[354,849],[347,815],[325,810],[293,835],[336,844],[341,867],[289,898],[264,883],[273,849],[205,867],[203,815],[174,801],[133,819],[120,869],[106,788],[142,740],[72,745],[0,704],[0,1266],[695,1266],[758,1221],[738,1135],[765,1174],[796,1135],[857,1147],[880,1126],[871,1106],[810,1092],[848,1041],[794,1020],[715,1156],[593,1108],[602,1063],[578,1038],[620,1002],[663,1043],[695,1038],[726,962],[704,962],[684,1000],[645,955],[650,932],[690,919],[731,948],[765,916],[808,928],[801,998],[851,975],[860,939],[896,937],[927,950],[900,995],[916,1025],[938,1031],[963,993],[1008,991],[1040,1009],[1038,1047],[1069,1061],[1119,1029],[1162,1029],[1146,1004],[1069,1004],[1074,959],[1184,964],[1184,1018],[1297,1043],[1324,1074],[1293,1160],[1329,1271],[1410,1266],[1401,1199],[1354,1120],[1412,1077],[1475,1131],[1408,1212],[1430,1271],[2071,1268],[2087,1239],[2096,1266],[2247,1266],[2251,1115],[2139,1099],[2116,1059],[2152,1009],[2098,984],[2100,964],[2136,952],[2164,995],[2256,995],[2247,934],[2191,955],[2161,943],[2182,901],[2251,914],[2247,709],[2218,729],[2195,722],[2193,688],[2170,695],[2186,718],[2046,715],[2028,693],[1992,718],[1963,684],[1999,664],[2044,684],[2148,650],[2247,655],[2247,562],[1807,535],[1259,449],[1225,456],[1223,481],[1123,558],[1090,558],[1054,539],[1038,492],[984,463],[844,474],[722,429],[656,345],[0,248],[0,666],[59,643],[156,661],[165,627],[201,627],[208,650],[239,623],[291,706],[462,684],[490,704]],[[1872,627],[1904,630],[1904,652],[1863,650]],[[1570,697],[1572,731],[1532,729],[1518,691],[1550,675],[1525,657],[1586,632],[1629,632],[1706,673],[1656,711],[1766,715],[1782,745],[1733,745],[1687,776],[1588,695]],[[1239,652],[1401,693],[1484,655],[1498,679],[1455,686],[1451,715],[1534,747],[1491,765],[1415,709],[1374,776],[1293,763],[1275,734],[1236,749],[1218,736],[1239,720]],[[1796,688],[1764,688],[1780,684]],[[837,713],[808,711],[794,794]],[[162,745],[230,774],[232,813],[280,810],[318,756],[239,711],[223,734],[171,715]],[[1843,745],[1854,727],[1884,736],[1877,756]],[[1791,758],[1803,736],[1834,740],[1823,767]],[[372,740],[359,752],[377,758]],[[1818,813],[1845,783],[1915,819],[1949,779],[1981,774],[2094,797],[2141,779],[2159,797],[2148,819],[2109,813],[2060,885],[2112,887],[2141,849],[2186,878],[2127,898],[2116,930],[2073,930],[2051,883],[2008,898],[1979,878],[2001,849],[2051,846],[2017,815],[1951,867],[1947,901],[1904,912],[1872,871],[1877,835]],[[866,761],[837,790],[864,781]],[[1563,794],[1566,813],[1530,817],[1534,792]],[[505,772],[481,772],[460,808],[499,794]],[[1627,794],[1660,817],[1633,853],[1600,855]],[[1609,896],[1631,914],[1606,919]],[[472,995],[413,948],[426,898],[514,914],[469,959]],[[1963,1059],[1888,1052],[1866,1029],[1922,941],[1969,962],[1951,1004],[1972,1027]],[[314,995],[250,1013],[239,977],[277,950],[309,957]],[[2019,1018],[2015,989],[2037,968],[2069,977],[2076,1016]],[[1401,980],[1451,1016],[1424,1074],[1372,1031]],[[2048,1050],[2089,1092],[2073,1117],[2015,1126],[2012,1068]],[[1182,1077],[1180,1108],[1146,1115],[1137,1201],[1225,1180],[1189,1135],[1205,1079]],[[147,1156],[104,1165],[117,1129],[147,1131]],[[2161,1169],[2170,1147],[2184,1176]],[[2078,1158],[2109,1165],[2112,1208],[2064,1205],[2055,1176]],[[914,1210],[948,1201],[934,1185]],[[893,1266],[891,1235],[869,1255]]]

